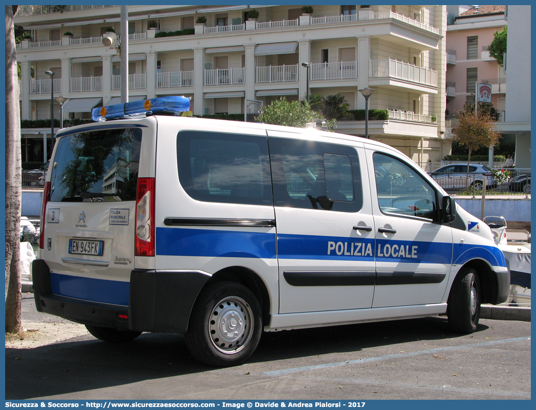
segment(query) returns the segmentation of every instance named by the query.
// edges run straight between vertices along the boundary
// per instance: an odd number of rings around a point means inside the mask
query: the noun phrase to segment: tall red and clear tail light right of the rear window
[[[135,255],[154,256],[154,178],[138,178]]]

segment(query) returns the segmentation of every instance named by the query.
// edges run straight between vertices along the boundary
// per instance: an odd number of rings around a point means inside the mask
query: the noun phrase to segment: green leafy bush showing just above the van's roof
[[[308,122],[325,121],[324,116],[313,111],[307,101],[287,101],[286,97],[272,101],[272,104],[263,107],[256,122],[266,124],[282,125],[286,127],[304,128]],[[335,121],[327,121],[327,128],[332,129]]]

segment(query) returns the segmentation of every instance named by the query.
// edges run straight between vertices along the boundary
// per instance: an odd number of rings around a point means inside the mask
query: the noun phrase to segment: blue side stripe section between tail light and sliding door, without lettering
[[[157,228],[156,236],[157,255],[276,258],[275,233]]]

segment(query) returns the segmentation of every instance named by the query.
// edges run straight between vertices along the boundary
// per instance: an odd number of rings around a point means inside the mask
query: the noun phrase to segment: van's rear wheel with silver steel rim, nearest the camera
[[[255,351],[262,333],[260,305],[252,292],[234,282],[214,282],[199,295],[185,334],[200,362],[233,366]]]

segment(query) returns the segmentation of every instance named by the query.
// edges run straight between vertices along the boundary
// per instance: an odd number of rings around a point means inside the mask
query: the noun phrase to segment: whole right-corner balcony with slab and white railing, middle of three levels
[[[417,65],[393,60],[371,60],[369,76],[371,78],[387,77],[388,82],[376,81],[371,85],[389,85],[413,87],[415,91],[425,93],[437,92],[437,71]],[[392,79],[395,79],[392,81]],[[400,81],[402,80],[402,81]],[[411,83],[411,84],[407,84]],[[416,86],[417,85],[417,86]],[[418,85],[421,85],[420,87]]]

